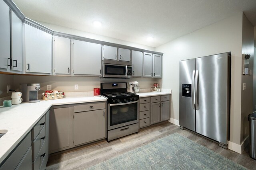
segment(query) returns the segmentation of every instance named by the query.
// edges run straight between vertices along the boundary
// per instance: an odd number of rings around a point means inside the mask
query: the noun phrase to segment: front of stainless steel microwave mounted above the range
[[[132,78],[132,66],[104,63],[103,70],[103,77]]]

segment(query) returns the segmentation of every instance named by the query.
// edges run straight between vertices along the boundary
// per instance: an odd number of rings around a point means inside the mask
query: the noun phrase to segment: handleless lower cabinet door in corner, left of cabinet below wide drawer
[[[50,153],[69,146],[69,107],[50,109]]]

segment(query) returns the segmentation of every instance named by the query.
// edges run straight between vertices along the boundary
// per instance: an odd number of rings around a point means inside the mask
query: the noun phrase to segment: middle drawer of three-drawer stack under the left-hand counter
[[[42,148],[44,141],[46,141],[46,136],[45,136],[45,126],[42,129],[42,131],[39,133],[39,135],[36,137],[34,142],[32,143],[32,161],[34,161]]]

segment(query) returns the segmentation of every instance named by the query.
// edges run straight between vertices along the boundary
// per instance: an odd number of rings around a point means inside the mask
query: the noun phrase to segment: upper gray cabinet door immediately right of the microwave
[[[141,51],[132,51],[132,70],[132,76],[142,77],[143,53]]]

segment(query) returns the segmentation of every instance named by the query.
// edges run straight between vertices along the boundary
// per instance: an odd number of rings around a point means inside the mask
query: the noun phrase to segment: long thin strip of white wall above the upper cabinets
[[[106,42],[110,42],[110,43],[127,45],[127,46],[130,46],[130,47],[136,47],[136,48],[146,49],[146,50],[150,50],[150,51],[155,51],[155,49],[156,49],[154,47],[149,47],[149,46],[146,46],[146,45],[131,43],[131,42],[123,41],[123,40],[120,40],[120,39],[114,39],[114,38],[105,37],[105,36],[102,36],[102,35],[96,35],[96,34],[93,34],[93,33],[79,31],[79,30],[76,30],[76,29],[71,29],[71,28],[62,27],[62,26],[58,26],[58,25],[52,25],[50,23],[44,23],[44,22],[40,22],[40,21],[36,21],[36,22],[44,25],[45,27],[48,27],[48,28],[52,29],[53,31],[57,31],[57,32],[61,32],[61,33],[67,33],[67,34],[76,35],[76,36],[80,36],[80,37],[86,37],[86,38],[96,39],[96,40],[100,40],[100,41],[106,41]]]

